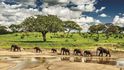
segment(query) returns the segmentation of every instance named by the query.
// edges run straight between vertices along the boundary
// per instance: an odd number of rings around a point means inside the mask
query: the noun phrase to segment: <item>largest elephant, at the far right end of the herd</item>
[[[96,55],[103,56],[104,54],[106,55],[106,57],[107,56],[111,57],[110,51],[108,49],[103,47],[98,47],[96,50]]]

